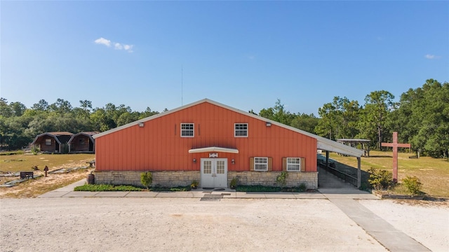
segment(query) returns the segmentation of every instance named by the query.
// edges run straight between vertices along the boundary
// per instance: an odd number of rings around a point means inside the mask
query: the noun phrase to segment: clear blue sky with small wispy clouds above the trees
[[[449,81],[448,1],[1,1],[1,86],[135,111],[209,98],[248,111],[281,99],[399,99]]]

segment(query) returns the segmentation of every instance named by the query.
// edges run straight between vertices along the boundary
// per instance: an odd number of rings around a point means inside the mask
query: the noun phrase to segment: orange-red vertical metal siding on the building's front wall
[[[194,137],[180,137],[181,123],[194,123]],[[234,137],[234,123],[248,123],[248,137]],[[98,171],[199,170],[208,153],[188,151],[215,146],[239,150],[218,153],[229,159],[229,171],[248,171],[250,157],[258,156],[272,157],[273,171],[282,170],[284,157],[306,158],[306,171],[316,172],[316,139],[207,102],[106,134],[95,144]]]

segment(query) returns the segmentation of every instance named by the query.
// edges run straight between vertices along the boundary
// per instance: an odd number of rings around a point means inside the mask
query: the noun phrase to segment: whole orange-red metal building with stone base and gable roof
[[[316,151],[360,157],[363,152],[294,127],[203,99],[93,135],[95,183],[227,188],[274,186],[288,172],[287,186],[318,187]]]

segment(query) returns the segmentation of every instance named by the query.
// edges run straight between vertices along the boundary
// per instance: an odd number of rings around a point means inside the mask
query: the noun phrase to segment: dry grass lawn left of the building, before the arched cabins
[[[41,171],[45,166],[52,171],[67,163],[86,166],[86,161],[95,159],[95,154],[41,154],[41,155],[0,155],[1,172],[28,172],[37,166]]]

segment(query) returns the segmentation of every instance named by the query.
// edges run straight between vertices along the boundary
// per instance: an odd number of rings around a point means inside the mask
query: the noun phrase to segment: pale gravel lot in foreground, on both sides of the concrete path
[[[361,204],[448,251],[447,205]],[[38,198],[2,199],[0,209],[0,251],[386,251],[328,200]],[[402,225],[410,216],[425,218]]]

